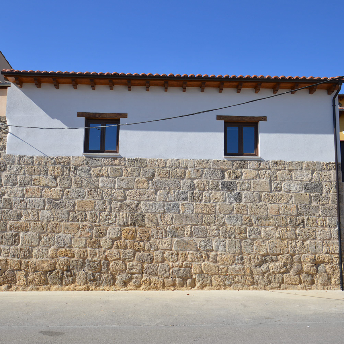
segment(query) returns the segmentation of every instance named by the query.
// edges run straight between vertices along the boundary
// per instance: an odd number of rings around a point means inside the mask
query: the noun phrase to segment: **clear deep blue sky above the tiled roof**
[[[15,69],[344,74],[343,0],[12,0],[8,6],[0,50]]]

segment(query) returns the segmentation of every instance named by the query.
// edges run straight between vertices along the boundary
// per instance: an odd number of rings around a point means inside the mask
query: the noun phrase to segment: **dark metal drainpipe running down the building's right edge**
[[[338,179],[338,147],[337,147],[337,120],[336,120],[336,97],[340,92],[342,84],[339,84],[337,92],[332,98],[332,109],[333,109],[333,133],[334,133],[334,160],[336,167],[336,194],[337,194],[337,227],[338,227],[338,246],[339,246],[339,277],[340,277],[340,288],[343,288],[343,260],[342,260],[342,237],[341,237],[341,214],[339,208],[339,179]],[[343,163],[343,162],[342,162]]]

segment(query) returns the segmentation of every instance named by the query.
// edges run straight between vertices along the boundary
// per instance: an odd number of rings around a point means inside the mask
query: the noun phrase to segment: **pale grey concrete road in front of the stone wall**
[[[342,291],[0,293],[0,343],[344,342]]]

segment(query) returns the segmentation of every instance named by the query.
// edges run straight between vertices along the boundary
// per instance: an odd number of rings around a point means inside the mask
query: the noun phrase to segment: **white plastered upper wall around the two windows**
[[[126,112],[121,123],[158,119],[212,109],[271,95],[272,91],[216,88],[24,84],[8,89],[7,121],[11,125],[83,127],[81,112]],[[223,159],[224,122],[216,115],[267,116],[259,123],[259,155],[264,160],[334,161],[332,97],[325,90],[257,101],[206,114],[120,127],[119,153],[123,157]],[[28,155],[82,155],[84,130],[11,128],[7,153]]]

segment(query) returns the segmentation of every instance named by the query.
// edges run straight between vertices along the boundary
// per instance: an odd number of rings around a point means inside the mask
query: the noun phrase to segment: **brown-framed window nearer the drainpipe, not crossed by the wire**
[[[225,122],[225,155],[258,155],[258,123]]]

